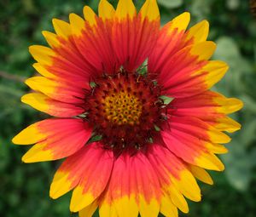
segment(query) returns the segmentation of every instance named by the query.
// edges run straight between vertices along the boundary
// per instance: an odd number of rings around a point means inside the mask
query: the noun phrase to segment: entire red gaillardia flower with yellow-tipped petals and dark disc
[[[201,200],[195,180],[212,184],[205,169],[223,170],[215,154],[241,128],[227,114],[234,98],[210,91],[228,66],[209,60],[208,23],[186,30],[189,13],[160,27],[156,0],[137,10],[101,0],[96,15],[53,20],[43,31],[49,47],[31,46],[42,75],[26,80],[34,93],[22,101],[54,118],[34,123],[13,142],[32,148],[25,163],[67,157],[50,197],[73,190],[70,209],[81,217],[177,216],[185,197]],[[169,103],[166,103],[169,97]],[[171,100],[171,102],[170,102]]]

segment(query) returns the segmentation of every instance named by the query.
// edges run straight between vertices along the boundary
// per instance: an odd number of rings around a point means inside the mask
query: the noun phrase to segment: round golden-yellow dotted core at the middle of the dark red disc
[[[125,89],[121,89],[119,93],[109,94],[103,105],[105,116],[110,122],[118,125],[139,124],[143,111],[142,101]]]

